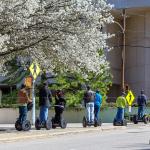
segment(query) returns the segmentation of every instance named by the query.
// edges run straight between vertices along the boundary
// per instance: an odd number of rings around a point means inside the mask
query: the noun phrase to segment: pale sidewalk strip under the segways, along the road
[[[66,129],[56,128],[51,130],[41,129],[35,130],[34,126],[28,132],[16,131],[14,124],[0,124],[0,142],[15,142],[18,140],[29,140],[60,136],[66,134],[77,134],[84,132],[102,132],[116,129],[126,129],[122,126],[113,126],[110,123],[103,123],[101,127],[83,128],[81,123],[69,123]]]

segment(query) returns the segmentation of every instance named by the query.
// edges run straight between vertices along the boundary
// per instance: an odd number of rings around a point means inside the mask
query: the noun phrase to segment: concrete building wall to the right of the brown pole
[[[137,10],[127,18],[125,80],[136,94],[150,97],[150,11]]]

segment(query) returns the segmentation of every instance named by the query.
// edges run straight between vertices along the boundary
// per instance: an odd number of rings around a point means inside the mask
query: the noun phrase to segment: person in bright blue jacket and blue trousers
[[[95,115],[95,119],[99,119],[99,111],[100,111],[100,107],[102,104],[102,96],[99,92],[99,90],[96,90],[96,94],[95,94],[95,100],[94,100],[94,115]]]

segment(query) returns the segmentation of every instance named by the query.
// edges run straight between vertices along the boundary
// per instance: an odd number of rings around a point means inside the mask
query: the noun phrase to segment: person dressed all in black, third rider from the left
[[[66,105],[63,91],[57,90],[55,95],[55,121],[60,122]]]

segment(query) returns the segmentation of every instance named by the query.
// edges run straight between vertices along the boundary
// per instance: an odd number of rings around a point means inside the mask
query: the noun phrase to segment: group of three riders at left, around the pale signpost
[[[18,93],[18,103],[19,103],[19,122],[23,123],[27,119],[28,104],[32,102],[29,96],[29,88],[24,84]],[[43,83],[42,87],[39,89],[39,119],[41,124],[44,124],[48,119],[48,110],[52,102],[52,93],[48,88],[46,82]],[[55,118],[60,120],[65,107],[66,101],[62,90],[57,90],[55,92]]]

